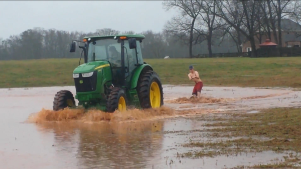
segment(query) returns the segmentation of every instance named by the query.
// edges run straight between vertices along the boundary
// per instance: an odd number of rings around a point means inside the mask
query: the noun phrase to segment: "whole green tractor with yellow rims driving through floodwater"
[[[136,108],[156,108],[164,104],[161,79],[153,67],[143,62],[140,43],[144,35],[108,35],[73,40],[84,53],[83,64],[73,71],[78,105],[102,111],[124,111]],[[80,57],[81,59],[81,57]],[[53,101],[53,110],[76,107],[71,91],[60,90]]]

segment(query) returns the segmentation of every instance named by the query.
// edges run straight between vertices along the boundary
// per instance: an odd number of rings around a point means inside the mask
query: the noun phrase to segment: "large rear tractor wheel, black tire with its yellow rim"
[[[142,108],[158,108],[164,104],[161,79],[153,70],[142,72],[138,80],[137,92]]]

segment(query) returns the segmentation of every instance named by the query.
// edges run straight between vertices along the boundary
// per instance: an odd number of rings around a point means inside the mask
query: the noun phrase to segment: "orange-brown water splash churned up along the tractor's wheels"
[[[31,114],[27,122],[42,123],[47,121],[81,121],[94,123],[101,121],[127,122],[135,120],[160,119],[175,115],[176,111],[170,107],[162,106],[160,108],[150,109],[129,109],[124,112],[116,110],[114,113],[107,113],[97,109],[70,109],[54,111],[42,109],[38,113]]]

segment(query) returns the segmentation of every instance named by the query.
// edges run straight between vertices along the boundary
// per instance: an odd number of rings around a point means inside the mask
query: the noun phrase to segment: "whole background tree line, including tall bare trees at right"
[[[144,58],[183,58],[204,53],[211,57],[212,53],[240,52],[245,40],[250,41],[252,56],[256,57],[254,35],[270,38],[273,34],[275,43],[281,46],[281,31],[277,31],[281,19],[301,21],[300,4],[298,0],[165,0],[163,7],[175,8],[178,14],[161,32],[120,32],[111,28],[70,32],[35,27],[7,39],[0,37],[0,60],[76,58],[80,50],[69,52],[73,39],[112,34],[145,35],[141,46]]]

